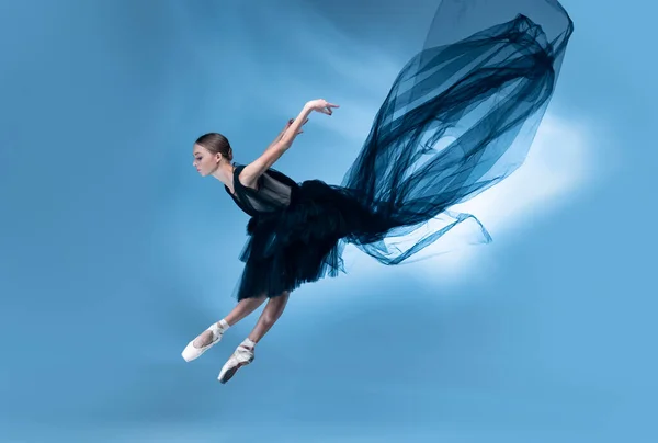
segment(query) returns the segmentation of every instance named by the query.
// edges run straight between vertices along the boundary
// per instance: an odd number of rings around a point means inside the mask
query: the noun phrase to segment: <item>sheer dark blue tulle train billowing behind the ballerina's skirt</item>
[[[450,208],[523,163],[572,30],[556,0],[441,1],[341,183],[377,227],[344,241],[385,264],[466,220],[489,241],[475,216]],[[402,246],[436,217],[449,222]]]

